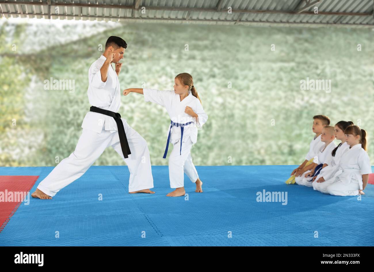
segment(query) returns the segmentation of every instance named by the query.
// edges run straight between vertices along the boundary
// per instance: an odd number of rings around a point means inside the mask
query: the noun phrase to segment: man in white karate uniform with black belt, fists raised
[[[147,142],[117,113],[121,103],[118,74],[122,63],[119,61],[126,47],[122,38],[109,37],[105,52],[91,65],[87,94],[92,107],[83,119],[83,132],[76,149],[39,183],[32,197],[52,198],[82,176],[108,146],[112,146],[128,165],[129,193],[154,193],[150,190],[153,177]]]

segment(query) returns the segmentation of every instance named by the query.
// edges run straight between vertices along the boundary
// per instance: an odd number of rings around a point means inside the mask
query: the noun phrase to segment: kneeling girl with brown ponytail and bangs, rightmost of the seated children
[[[358,126],[349,126],[344,131],[349,149],[340,158],[339,168],[334,174],[334,183],[327,187],[330,195],[358,195],[368,184],[371,165],[366,152],[366,131]]]

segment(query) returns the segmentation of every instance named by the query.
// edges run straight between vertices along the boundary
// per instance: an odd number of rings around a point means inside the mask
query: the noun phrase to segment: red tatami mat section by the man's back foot
[[[0,192],[8,200],[7,193],[29,192],[38,178],[39,176],[0,176]],[[4,199],[0,199],[0,232],[8,223],[10,217],[13,216],[22,200],[18,200],[18,202],[15,202],[15,200],[12,202],[4,201]]]

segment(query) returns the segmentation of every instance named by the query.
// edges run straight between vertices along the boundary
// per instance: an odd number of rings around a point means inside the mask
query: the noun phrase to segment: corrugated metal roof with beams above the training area
[[[315,13],[318,7],[318,13]],[[231,12],[230,12],[231,9]],[[1,16],[98,21],[373,27],[373,0],[9,0]]]

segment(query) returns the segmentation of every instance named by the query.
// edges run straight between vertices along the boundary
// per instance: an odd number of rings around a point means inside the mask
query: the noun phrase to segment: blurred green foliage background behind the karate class
[[[371,29],[2,19],[0,166],[55,166],[56,156],[61,161],[74,151],[90,107],[88,68],[110,35],[128,43],[122,90],[170,90],[178,73],[193,76],[209,116],[192,149],[196,165],[298,164],[316,114],[328,115],[332,125],[361,125],[373,161]],[[50,77],[75,80],[75,92],[45,90],[43,81]],[[300,90],[307,77],[331,79],[331,93]],[[122,97],[119,112],[147,140],[152,164],[166,165],[165,109],[131,93]],[[122,164],[107,148],[94,165]]]

